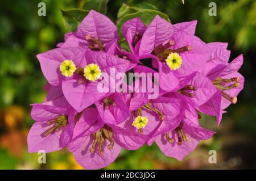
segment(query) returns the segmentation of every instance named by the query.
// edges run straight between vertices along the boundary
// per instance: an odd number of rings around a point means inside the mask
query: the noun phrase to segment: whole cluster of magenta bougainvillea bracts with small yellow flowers
[[[121,149],[155,142],[163,154],[181,161],[215,133],[200,127],[199,113],[216,116],[220,125],[244,82],[238,73],[242,55],[229,62],[228,44],[204,43],[195,36],[196,24],[171,24],[158,15],[148,26],[130,19],[122,26],[129,46],[123,48],[114,23],[90,11],[64,43],[37,56],[47,97],[32,104],[36,123],[28,133],[28,151],[68,148],[85,169],[100,169]],[[116,79],[119,73],[157,73],[151,82],[158,82],[158,96],[150,98],[148,90],[111,91],[120,81],[122,88],[133,87]],[[102,92],[104,75],[112,83]],[[133,81],[142,87],[140,78]]]

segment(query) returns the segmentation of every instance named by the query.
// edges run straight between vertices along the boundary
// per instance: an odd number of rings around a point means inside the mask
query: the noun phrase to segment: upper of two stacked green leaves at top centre
[[[117,12],[117,18],[122,18],[123,16],[127,15],[127,14],[131,14],[134,12],[137,12],[139,10],[144,10],[144,9],[148,9],[148,10],[158,10],[157,7],[155,7],[154,5],[151,5],[150,3],[130,3],[130,4],[125,4],[123,3],[122,6],[120,7],[120,9]]]

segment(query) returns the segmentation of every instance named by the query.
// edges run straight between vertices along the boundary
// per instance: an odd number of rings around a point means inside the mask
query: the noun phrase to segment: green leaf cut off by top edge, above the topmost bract
[[[84,2],[84,10],[95,10],[101,12],[102,14],[106,14],[107,4],[109,0],[85,0]]]

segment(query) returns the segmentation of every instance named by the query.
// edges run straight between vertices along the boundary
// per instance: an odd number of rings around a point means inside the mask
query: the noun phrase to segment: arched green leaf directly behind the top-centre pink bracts
[[[136,17],[141,18],[142,22],[148,26],[150,22],[155,18],[156,15],[159,15],[161,18],[166,19],[170,22],[170,19],[167,14],[156,10],[140,10],[138,12],[134,12],[132,14],[127,14],[123,16],[123,18],[119,19],[117,22],[117,28],[119,31],[119,35],[122,36],[122,26],[129,19],[133,19]]]

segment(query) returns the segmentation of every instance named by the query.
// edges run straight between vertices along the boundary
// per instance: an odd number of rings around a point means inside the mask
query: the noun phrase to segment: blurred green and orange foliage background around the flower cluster
[[[46,16],[38,16],[38,3],[46,3]],[[142,1],[139,1],[142,2]],[[254,0],[150,0],[168,14],[172,23],[197,19],[196,35],[209,43],[228,42],[230,60],[244,55],[240,70],[245,89],[230,106],[217,128],[214,117],[203,116],[203,127],[217,132],[201,141],[196,150],[179,162],[168,158],[154,144],[135,151],[122,150],[106,169],[256,169],[256,1]],[[217,4],[217,16],[209,16],[209,2]],[[60,9],[82,8],[84,0],[3,0],[0,2],[0,169],[82,169],[67,150],[28,154],[27,133],[34,121],[31,103],[43,102],[46,84],[36,54],[63,41]],[[107,15],[117,21],[121,0],[110,0]],[[217,163],[209,164],[208,151],[217,151]]]

